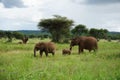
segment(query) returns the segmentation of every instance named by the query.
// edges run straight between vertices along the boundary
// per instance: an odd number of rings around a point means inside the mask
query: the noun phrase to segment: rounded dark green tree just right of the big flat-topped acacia
[[[75,26],[75,28],[72,29],[71,32],[74,36],[87,35],[88,29],[86,28],[85,25],[79,24],[79,25]]]

